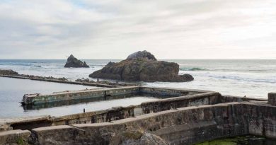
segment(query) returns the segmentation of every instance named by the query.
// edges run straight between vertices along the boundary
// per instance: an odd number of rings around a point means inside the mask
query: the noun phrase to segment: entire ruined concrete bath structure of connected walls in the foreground
[[[88,96],[116,99],[136,94],[161,99],[109,110],[5,122],[0,144],[122,144],[122,134],[134,131],[142,132],[135,139],[152,135],[164,144],[197,144],[248,134],[276,139],[275,93],[269,93],[265,100],[214,91],[136,86],[25,95],[23,100],[25,104],[42,105]]]

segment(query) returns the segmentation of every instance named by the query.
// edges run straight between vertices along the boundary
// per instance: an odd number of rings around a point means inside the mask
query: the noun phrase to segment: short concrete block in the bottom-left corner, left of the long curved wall
[[[28,130],[10,130],[0,132],[0,144],[25,144],[30,139]]]

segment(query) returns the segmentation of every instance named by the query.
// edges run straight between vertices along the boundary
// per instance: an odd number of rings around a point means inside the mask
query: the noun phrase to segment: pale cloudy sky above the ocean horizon
[[[0,0],[0,59],[276,59],[275,0]]]

